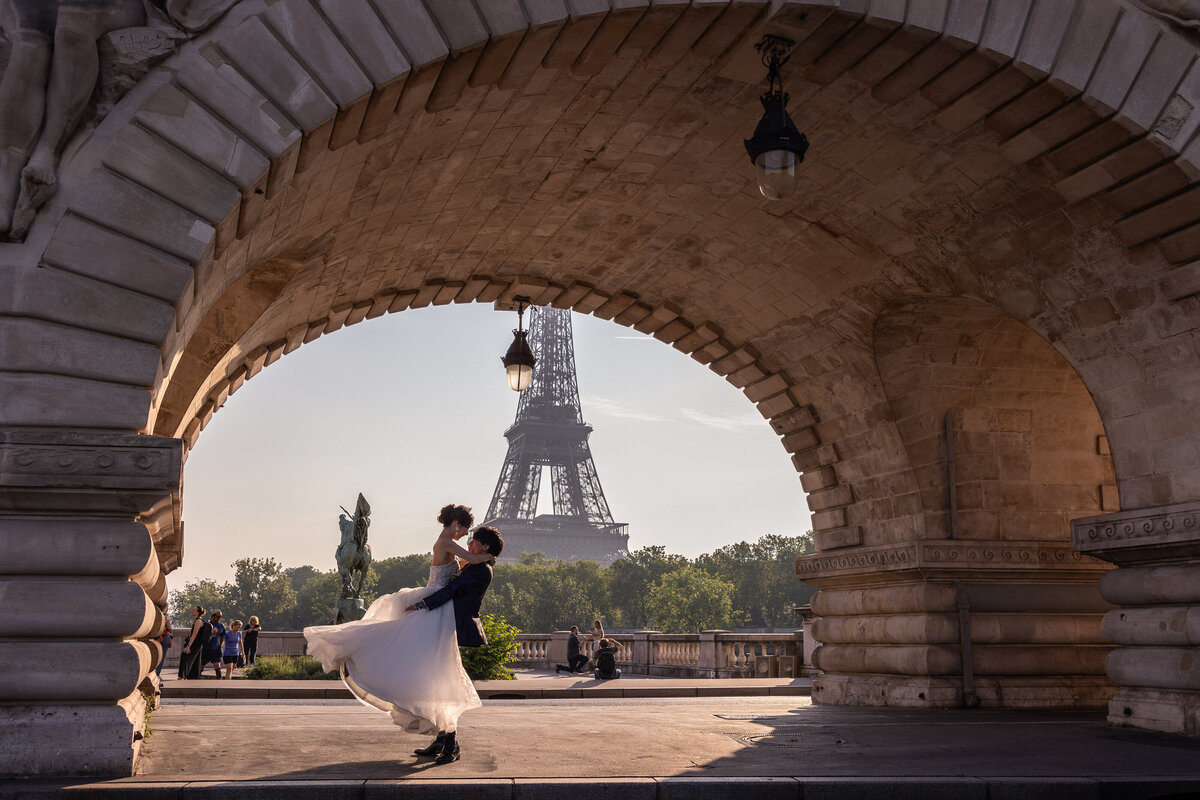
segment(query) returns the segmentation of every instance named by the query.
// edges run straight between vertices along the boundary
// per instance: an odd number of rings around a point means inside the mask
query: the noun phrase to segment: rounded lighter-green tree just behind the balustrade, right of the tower
[[[666,573],[650,588],[646,613],[664,633],[733,627],[733,584],[688,565]]]

